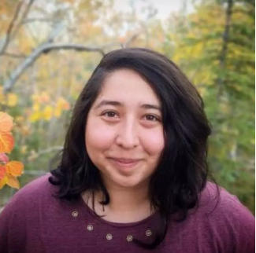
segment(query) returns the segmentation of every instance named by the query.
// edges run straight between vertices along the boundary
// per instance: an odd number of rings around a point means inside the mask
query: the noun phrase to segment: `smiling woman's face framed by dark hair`
[[[136,72],[107,77],[87,117],[85,144],[106,185],[148,182],[164,148],[161,103]]]

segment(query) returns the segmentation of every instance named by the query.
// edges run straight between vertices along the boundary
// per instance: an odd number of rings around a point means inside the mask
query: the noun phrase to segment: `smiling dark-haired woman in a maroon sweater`
[[[150,49],[106,54],[61,162],[2,211],[0,252],[254,252],[254,216],[207,181],[202,98]]]

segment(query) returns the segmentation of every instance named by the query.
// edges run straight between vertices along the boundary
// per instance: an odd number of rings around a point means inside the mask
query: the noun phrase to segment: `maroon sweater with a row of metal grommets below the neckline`
[[[158,213],[141,222],[118,224],[99,218],[82,200],[60,201],[49,174],[20,189],[0,214],[1,253],[143,253],[132,238],[154,237]],[[165,240],[151,252],[255,252],[254,216],[236,196],[208,183],[198,209],[181,223],[170,222]],[[215,208],[214,208],[215,207]]]

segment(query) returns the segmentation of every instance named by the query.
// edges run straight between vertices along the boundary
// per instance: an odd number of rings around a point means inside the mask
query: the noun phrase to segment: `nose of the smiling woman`
[[[121,123],[116,138],[117,145],[131,149],[139,145],[138,126],[134,120]]]

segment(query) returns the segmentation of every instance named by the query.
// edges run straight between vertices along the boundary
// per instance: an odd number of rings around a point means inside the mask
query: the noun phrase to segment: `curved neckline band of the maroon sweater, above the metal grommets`
[[[147,218],[143,218],[139,222],[125,222],[125,223],[109,222],[109,221],[106,221],[104,218],[102,218],[102,217],[98,216],[97,214],[95,214],[95,211],[93,211],[87,205],[87,203],[85,203],[83,201],[82,196],[80,196],[79,201],[80,201],[81,207],[83,207],[83,210],[85,210],[88,214],[90,214],[92,218],[95,218],[98,222],[101,222],[103,224],[105,223],[106,225],[113,226],[113,227],[128,228],[128,227],[142,226],[143,224],[149,222],[150,220],[154,219],[158,215],[158,211],[155,211],[153,214],[150,214],[150,216],[148,216]]]

